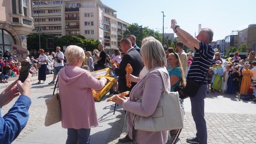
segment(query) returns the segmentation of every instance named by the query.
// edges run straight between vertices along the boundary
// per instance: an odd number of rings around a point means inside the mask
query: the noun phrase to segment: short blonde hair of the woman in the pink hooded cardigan
[[[76,45],[70,45],[67,46],[67,49],[65,51],[67,63],[73,62],[77,58],[85,58],[84,50],[83,48],[76,46]]]

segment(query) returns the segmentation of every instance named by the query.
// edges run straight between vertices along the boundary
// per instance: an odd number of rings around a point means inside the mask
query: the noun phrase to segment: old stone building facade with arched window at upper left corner
[[[4,0],[0,6],[0,51],[11,46],[27,48],[27,35],[34,29],[31,0]]]

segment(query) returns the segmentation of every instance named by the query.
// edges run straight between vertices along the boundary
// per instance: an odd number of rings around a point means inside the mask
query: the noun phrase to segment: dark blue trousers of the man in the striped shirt
[[[191,113],[197,129],[199,144],[207,144],[207,127],[204,119],[204,99],[207,94],[207,85],[202,84],[195,96],[190,97]]]

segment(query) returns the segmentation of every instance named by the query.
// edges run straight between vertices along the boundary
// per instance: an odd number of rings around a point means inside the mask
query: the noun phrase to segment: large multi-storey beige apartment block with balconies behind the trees
[[[36,19],[39,14],[42,33],[59,36],[83,35],[85,38],[101,41],[106,48],[118,48],[126,27],[130,25],[117,18],[116,10],[104,5],[101,0],[45,0],[44,2],[39,2],[39,5],[35,2],[33,6],[34,33],[38,33]],[[49,13],[49,10],[53,11]]]

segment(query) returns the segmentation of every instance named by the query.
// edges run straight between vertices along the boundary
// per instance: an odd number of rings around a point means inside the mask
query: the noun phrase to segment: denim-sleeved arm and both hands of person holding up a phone
[[[0,117],[1,144],[12,143],[29,120],[29,106],[31,104],[31,100],[28,97],[31,93],[30,78],[31,76],[29,75],[24,83],[18,80],[14,81],[0,94],[0,108],[10,103],[13,98],[19,96],[8,113]],[[17,88],[14,87],[16,84]]]

